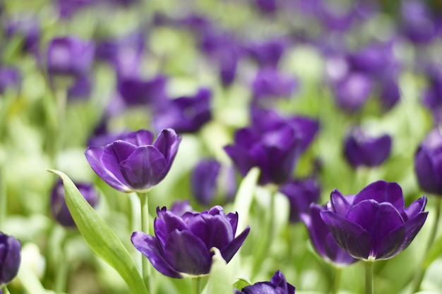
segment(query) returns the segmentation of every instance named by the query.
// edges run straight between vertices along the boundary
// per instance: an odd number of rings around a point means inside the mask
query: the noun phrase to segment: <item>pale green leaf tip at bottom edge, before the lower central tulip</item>
[[[210,267],[209,281],[203,293],[227,294],[233,293],[232,273],[227,269],[227,263],[222,258],[220,250],[216,247],[211,249],[215,254],[212,257],[212,267]]]

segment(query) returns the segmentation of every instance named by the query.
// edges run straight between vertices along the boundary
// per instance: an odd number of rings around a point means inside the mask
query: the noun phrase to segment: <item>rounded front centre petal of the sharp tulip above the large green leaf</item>
[[[135,190],[145,190],[160,183],[168,170],[167,161],[157,148],[148,145],[136,150],[119,164],[127,183]]]

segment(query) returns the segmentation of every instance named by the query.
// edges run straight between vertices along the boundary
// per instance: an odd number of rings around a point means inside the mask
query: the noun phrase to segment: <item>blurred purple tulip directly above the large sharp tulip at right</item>
[[[359,166],[380,166],[390,156],[391,137],[371,137],[360,128],[352,128],[344,141],[344,156],[357,169]]]

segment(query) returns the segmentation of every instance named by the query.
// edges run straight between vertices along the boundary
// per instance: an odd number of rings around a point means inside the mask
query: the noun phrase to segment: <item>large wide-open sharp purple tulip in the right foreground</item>
[[[330,195],[330,209],[321,211],[336,243],[352,257],[390,259],[410,245],[424,225],[426,197],[405,208],[397,183],[379,180],[354,197],[338,190]]]

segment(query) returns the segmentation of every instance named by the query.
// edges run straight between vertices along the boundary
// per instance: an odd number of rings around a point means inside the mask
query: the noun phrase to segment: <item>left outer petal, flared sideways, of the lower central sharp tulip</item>
[[[143,232],[133,232],[131,241],[136,250],[140,251],[148,257],[150,263],[161,274],[171,278],[182,278],[178,271],[174,270],[162,256],[161,250],[158,247],[157,239],[152,235],[147,235]]]

